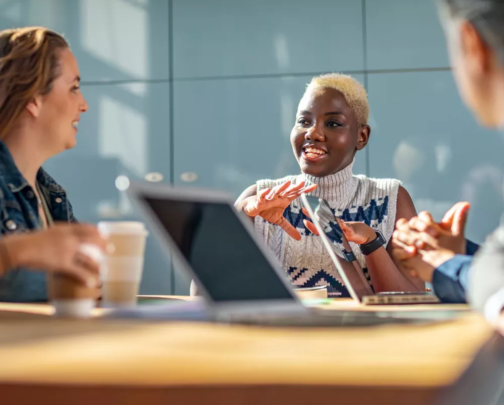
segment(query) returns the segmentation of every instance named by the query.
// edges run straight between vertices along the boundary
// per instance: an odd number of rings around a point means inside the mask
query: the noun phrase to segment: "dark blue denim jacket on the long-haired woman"
[[[76,222],[65,190],[42,168],[37,173],[37,182],[54,222]],[[0,141],[0,235],[26,232],[40,226],[37,197],[21,175],[9,149]],[[42,271],[23,268],[9,271],[0,278],[0,301],[46,301],[45,277]]]

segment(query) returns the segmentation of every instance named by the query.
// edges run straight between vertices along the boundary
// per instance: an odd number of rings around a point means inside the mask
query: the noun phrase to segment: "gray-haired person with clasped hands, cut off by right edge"
[[[504,127],[504,0],[438,0],[459,93],[478,122]],[[496,321],[504,309],[504,224],[478,247],[464,238],[468,203],[440,223],[428,212],[400,219],[394,256],[432,282],[446,302],[465,302]],[[472,256],[472,254],[474,254]]]

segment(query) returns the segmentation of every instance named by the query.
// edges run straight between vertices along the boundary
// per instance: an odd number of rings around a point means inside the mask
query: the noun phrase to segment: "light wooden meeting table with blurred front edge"
[[[394,306],[422,307],[466,309]],[[326,308],[361,310],[348,300]],[[492,335],[469,311],[429,325],[318,329],[106,320],[102,312],[56,319],[47,305],[0,304],[0,403],[431,403]]]

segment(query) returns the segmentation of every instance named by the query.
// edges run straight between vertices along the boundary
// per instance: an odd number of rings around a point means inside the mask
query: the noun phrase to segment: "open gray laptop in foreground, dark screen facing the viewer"
[[[276,257],[227,194],[132,183],[127,195],[167,256],[198,284],[208,320],[294,326],[421,322],[429,313],[328,311],[297,298]],[[450,315],[449,317],[453,317]]]

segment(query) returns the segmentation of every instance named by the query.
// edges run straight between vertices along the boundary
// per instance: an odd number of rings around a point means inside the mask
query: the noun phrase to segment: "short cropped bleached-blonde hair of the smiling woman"
[[[357,120],[357,125],[365,125],[369,120],[369,103],[367,102],[367,93],[364,86],[349,75],[341,73],[329,73],[326,75],[315,76],[306,85],[306,92],[309,90],[328,87],[338,90],[345,97],[345,101],[352,108]]]

